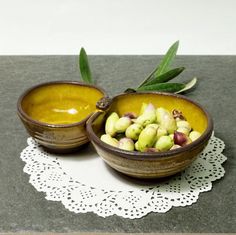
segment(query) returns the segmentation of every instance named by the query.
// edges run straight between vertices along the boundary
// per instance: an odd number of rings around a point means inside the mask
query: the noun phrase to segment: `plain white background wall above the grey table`
[[[236,0],[0,0],[0,54],[236,54]]]

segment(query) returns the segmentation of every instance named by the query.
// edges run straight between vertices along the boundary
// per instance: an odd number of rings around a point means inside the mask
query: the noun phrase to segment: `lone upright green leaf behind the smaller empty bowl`
[[[84,82],[93,84],[92,74],[89,67],[89,61],[86,51],[82,47],[79,54],[80,74]]]

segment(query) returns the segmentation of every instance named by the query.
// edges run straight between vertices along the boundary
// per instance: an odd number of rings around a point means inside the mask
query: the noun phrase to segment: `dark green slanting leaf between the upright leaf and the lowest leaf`
[[[168,82],[171,79],[177,77],[180,73],[182,73],[184,69],[185,69],[184,67],[171,69],[168,72],[159,75],[158,77],[153,77],[152,79],[150,79],[148,82],[145,83],[145,86],[153,85],[155,83]]]

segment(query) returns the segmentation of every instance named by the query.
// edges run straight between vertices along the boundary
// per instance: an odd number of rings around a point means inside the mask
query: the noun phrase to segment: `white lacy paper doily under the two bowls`
[[[150,212],[166,212],[173,206],[196,202],[200,192],[223,177],[224,142],[214,135],[197,160],[182,173],[165,180],[144,182],[117,173],[92,146],[73,155],[45,152],[32,138],[21,152],[29,182],[46,199],[61,201],[75,213],[94,212],[102,217],[140,218]]]

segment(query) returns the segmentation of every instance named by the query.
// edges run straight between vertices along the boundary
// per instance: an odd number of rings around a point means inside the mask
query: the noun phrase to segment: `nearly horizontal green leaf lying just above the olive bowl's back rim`
[[[165,92],[177,92],[185,88],[183,83],[156,83],[149,86],[139,87],[138,91],[165,91]]]

